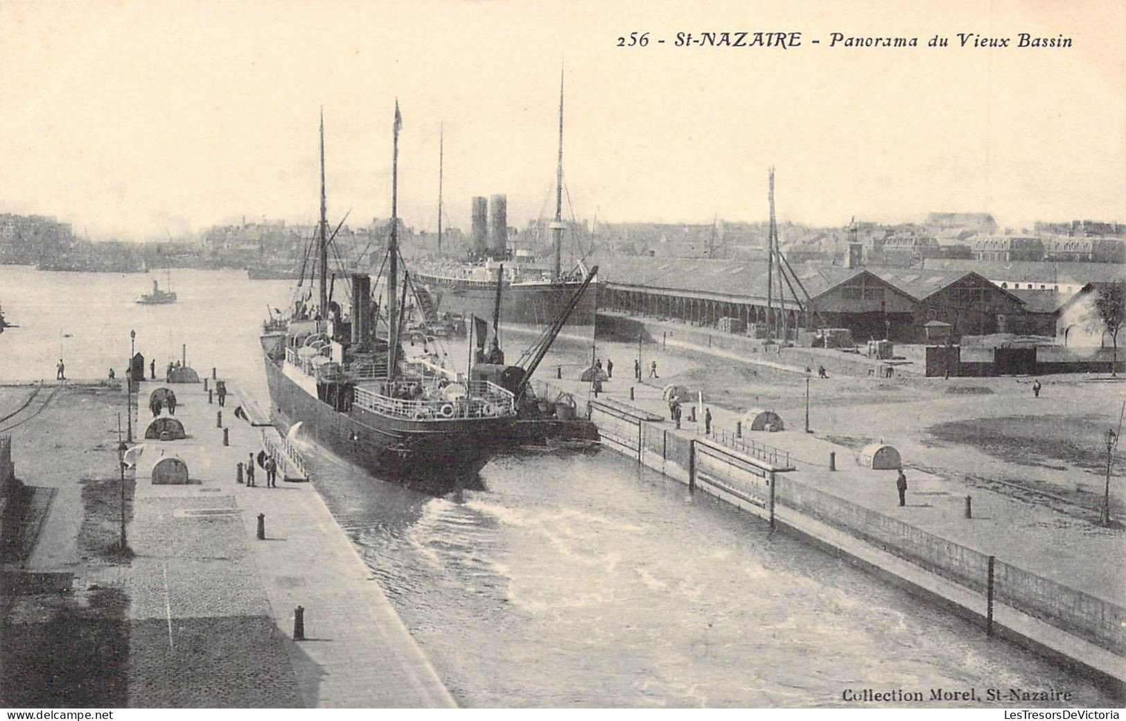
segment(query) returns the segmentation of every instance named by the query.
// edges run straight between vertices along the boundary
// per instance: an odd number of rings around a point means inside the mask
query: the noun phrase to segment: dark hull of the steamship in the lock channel
[[[508,435],[509,418],[408,420],[359,406],[340,412],[291,380],[266,358],[270,419],[282,433],[294,424],[314,443],[370,473],[443,495],[480,487],[479,472]]]

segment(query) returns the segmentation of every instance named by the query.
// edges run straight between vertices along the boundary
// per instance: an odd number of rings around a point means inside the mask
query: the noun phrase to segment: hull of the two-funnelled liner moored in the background
[[[497,303],[495,284],[419,274],[415,282],[439,297],[438,311],[491,319]],[[528,283],[501,288],[501,323],[544,327],[566,308],[582,282]],[[592,283],[568,317],[566,326],[593,327],[598,285]]]

